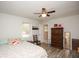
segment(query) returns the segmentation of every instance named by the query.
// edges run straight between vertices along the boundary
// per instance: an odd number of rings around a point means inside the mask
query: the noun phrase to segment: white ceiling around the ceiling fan
[[[48,11],[56,10],[50,17],[42,18],[35,12],[41,12],[41,8]],[[0,12],[18,15],[39,21],[46,21],[69,15],[79,14],[78,1],[0,1]]]

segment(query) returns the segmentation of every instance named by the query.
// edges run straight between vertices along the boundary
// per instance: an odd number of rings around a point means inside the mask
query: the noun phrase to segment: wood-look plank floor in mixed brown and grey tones
[[[39,46],[47,51],[48,58],[79,58],[79,53],[76,51],[54,48],[45,43],[42,43]]]

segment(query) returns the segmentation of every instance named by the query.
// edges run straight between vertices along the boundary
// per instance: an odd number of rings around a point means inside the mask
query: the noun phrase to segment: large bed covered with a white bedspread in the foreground
[[[23,41],[17,45],[0,45],[0,58],[46,58],[46,51],[37,45]]]

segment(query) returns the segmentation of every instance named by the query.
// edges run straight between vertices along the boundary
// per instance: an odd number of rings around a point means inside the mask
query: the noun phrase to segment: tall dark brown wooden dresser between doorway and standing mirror
[[[51,28],[51,46],[63,49],[63,28]]]

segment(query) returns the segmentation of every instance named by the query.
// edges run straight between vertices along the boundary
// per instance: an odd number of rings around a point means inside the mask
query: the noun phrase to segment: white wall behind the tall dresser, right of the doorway
[[[51,43],[51,28],[54,24],[62,24],[64,32],[71,32],[71,38],[79,39],[79,15],[52,19],[44,24],[48,24],[48,43]]]

